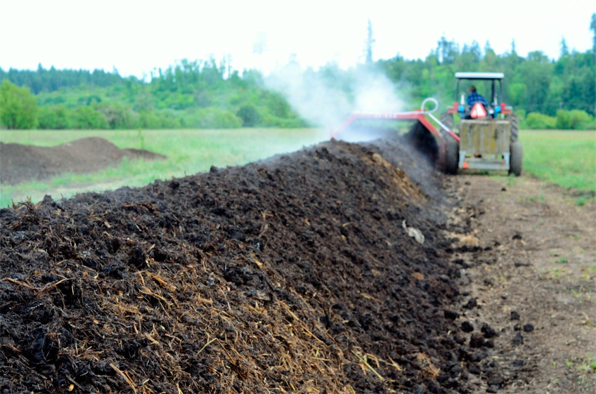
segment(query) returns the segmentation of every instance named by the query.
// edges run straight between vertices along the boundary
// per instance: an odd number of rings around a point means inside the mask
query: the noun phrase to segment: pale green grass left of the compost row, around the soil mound
[[[156,179],[170,179],[208,171],[211,166],[246,164],[272,155],[299,150],[328,138],[320,129],[233,130],[117,130],[117,131],[0,131],[3,143],[53,146],[79,138],[98,136],[120,148],[147,149],[167,160],[145,162],[124,159],[115,168],[96,173],[66,173],[44,181],[0,185],[0,207],[44,195],[54,199],[78,192],[113,190],[124,185],[142,186]]]

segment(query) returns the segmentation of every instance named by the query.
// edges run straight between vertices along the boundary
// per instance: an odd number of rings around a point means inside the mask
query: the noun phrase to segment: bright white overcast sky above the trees
[[[490,4],[490,7],[487,5]],[[373,58],[425,58],[444,34],[473,40],[497,53],[540,50],[557,58],[592,46],[595,0],[526,1],[5,1],[1,7],[0,67],[74,68],[142,77],[177,60],[221,59],[233,68],[265,72],[292,53],[303,66],[363,60],[367,20]],[[261,32],[259,34],[259,32]],[[267,51],[253,53],[257,37]]]

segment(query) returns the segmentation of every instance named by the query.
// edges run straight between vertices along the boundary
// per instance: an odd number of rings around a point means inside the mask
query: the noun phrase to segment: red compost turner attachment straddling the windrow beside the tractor
[[[426,109],[427,103],[434,103],[434,107]],[[383,127],[388,122],[414,122],[403,138],[408,140],[417,150],[426,155],[437,169],[446,173],[453,172],[453,165],[457,166],[457,153],[453,164],[453,151],[457,150],[460,137],[446,124],[437,119],[433,113],[439,107],[434,98],[422,101],[420,110],[394,113],[355,113],[330,132],[330,137],[349,142],[362,142],[375,138],[396,138],[396,129]],[[434,126],[434,121],[438,126]],[[448,159],[452,162],[449,163]]]

